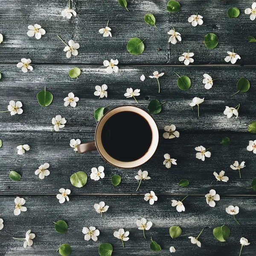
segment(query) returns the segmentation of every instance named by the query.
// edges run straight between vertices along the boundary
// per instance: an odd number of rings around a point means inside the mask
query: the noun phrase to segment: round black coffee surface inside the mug
[[[102,144],[116,160],[131,162],[143,157],[152,140],[146,119],[134,112],[123,111],[111,116],[102,128]]]

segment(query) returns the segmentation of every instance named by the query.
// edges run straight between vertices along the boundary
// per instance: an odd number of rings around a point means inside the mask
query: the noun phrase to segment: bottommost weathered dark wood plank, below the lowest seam
[[[113,256],[117,255],[170,255],[169,248],[174,246],[176,253],[181,256],[215,256],[238,255],[240,250],[239,240],[246,237],[250,246],[243,248],[243,254],[255,255],[256,245],[253,243],[256,199],[241,197],[221,197],[215,208],[207,205],[204,196],[188,197],[183,203],[186,211],[179,213],[171,206],[172,197],[158,198],[154,205],[149,205],[143,200],[143,196],[70,196],[70,201],[59,204],[54,196],[25,196],[27,212],[15,216],[15,197],[1,197],[0,212],[4,221],[4,228],[0,231],[0,255],[5,256],[54,256],[55,251],[62,243],[69,243],[72,247],[70,256],[98,255],[99,244],[109,242],[113,245]],[[180,198],[181,199],[181,198]],[[93,209],[95,203],[105,201],[109,209],[103,217]],[[132,202],[128,204],[128,202]],[[239,206],[239,214],[236,215],[239,226],[225,208],[229,205]],[[40,212],[40,214],[39,214]],[[153,226],[145,231],[146,240],[142,230],[138,230],[136,220],[146,218],[152,221]],[[64,220],[68,224],[65,234],[54,230],[52,221]],[[226,242],[220,242],[214,238],[214,227],[227,225],[230,227],[230,238]],[[169,228],[173,225],[181,227],[183,233],[180,237],[172,239]],[[83,227],[95,226],[100,231],[98,241],[84,241]],[[129,240],[125,242],[125,248],[119,239],[113,236],[113,232],[124,228],[130,232]],[[201,248],[191,244],[189,236],[198,236],[202,228]],[[26,231],[31,229],[35,233],[32,247],[23,248],[23,242],[12,237],[22,238]],[[162,250],[153,252],[149,249],[150,237],[157,241]]]

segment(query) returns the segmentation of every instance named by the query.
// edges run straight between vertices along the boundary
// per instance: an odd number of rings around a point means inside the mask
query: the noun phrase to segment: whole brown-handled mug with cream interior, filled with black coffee
[[[95,140],[77,146],[79,153],[98,150],[110,164],[135,168],[147,162],[158,145],[158,128],[154,119],[134,106],[113,108],[100,119]]]

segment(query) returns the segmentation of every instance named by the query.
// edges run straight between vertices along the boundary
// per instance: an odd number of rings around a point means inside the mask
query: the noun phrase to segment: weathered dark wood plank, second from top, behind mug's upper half
[[[139,107],[147,109],[151,99],[166,101],[163,111],[154,115],[162,129],[167,124],[175,124],[184,131],[239,131],[247,132],[247,125],[255,120],[256,108],[253,96],[254,66],[246,67],[125,67],[119,66],[120,71],[109,75],[103,67],[79,65],[82,70],[78,79],[70,79],[68,71],[71,65],[34,65],[34,70],[22,73],[15,65],[0,65],[2,71],[0,110],[7,109],[10,100],[20,100],[23,103],[23,113],[11,116],[1,113],[5,122],[0,122],[1,131],[47,131],[51,130],[51,120],[57,114],[67,119],[67,124],[61,132],[92,132],[96,126],[93,113],[96,108],[111,104],[110,108],[120,105],[136,104],[133,98],[126,99],[124,93],[127,87],[141,90],[137,98]],[[158,94],[156,79],[148,78],[154,70],[164,72],[160,78],[161,92]],[[189,90],[183,91],[177,86],[177,72],[179,75],[189,76],[192,82]],[[208,73],[212,78],[222,77],[214,81],[210,90],[204,88],[203,74]],[[144,82],[140,76],[147,76]],[[247,93],[236,92],[236,83],[242,77],[249,79],[250,90]],[[96,85],[108,85],[108,98],[98,99],[94,96]],[[40,90],[51,91],[54,99],[49,107],[41,107],[36,99]],[[70,92],[80,98],[76,108],[64,107],[63,99]],[[191,110],[189,103],[195,97],[205,98],[200,105],[200,118],[197,109]],[[225,106],[239,108],[238,119],[227,119],[223,111]],[[251,137],[253,135],[251,134]]]

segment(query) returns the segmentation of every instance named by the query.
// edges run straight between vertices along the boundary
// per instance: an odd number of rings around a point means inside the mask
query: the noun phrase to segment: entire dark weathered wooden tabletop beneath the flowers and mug
[[[242,250],[242,255],[255,255],[255,204],[256,194],[250,187],[255,177],[256,156],[247,151],[249,140],[256,136],[247,131],[247,125],[255,120],[255,44],[248,43],[247,37],[255,34],[255,22],[244,9],[253,1],[248,0],[180,0],[181,10],[177,13],[166,11],[167,0],[130,0],[128,9],[120,7],[117,0],[72,0],[71,6],[77,16],[70,20],[61,17],[61,10],[67,8],[67,1],[3,1],[0,10],[0,33],[4,41],[0,44],[0,109],[6,110],[10,100],[23,103],[23,113],[11,116],[1,113],[0,139],[0,217],[4,228],[0,231],[0,255],[8,256],[54,256],[63,243],[72,247],[72,256],[98,254],[99,244],[113,244],[115,256],[170,255],[174,246],[180,256],[231,256],[239,255],[241,237],[251,242]],[[230,7],[240,9],[238,18],[230,19],[226,12]],[[204,24],[192,27],[187,19],[192,14],[202,15]],[[144,15],[156,17],[157,29],[144,22]],[[109,20],[112,38],[103,38],[98,30]],[[40,24],[46,35],[40,40],[26,35],[27,26]],[[167,32],[175,27],[182,35],[181,43],[168,43]],[[218,35],[219,44],[208,49],[202,44],[207,33]],[[64,41],[73,39],[80,44],[79,55],[66,58]],[[142,55],[130,55],[126,44],[132,37],[144,41]],[[186,67],[178,57],[190,49],[195,62]],[[224,61],[227,51],[241,56],[235,65]],[[21,58],[30,58],[34,70],[28,73],[16,67]],[[105,72],[104,60],[118,59],[119,72],[111,75]],[[68,71],[73,67],[82,70],[78,79],[71,79]],[[160,78],[161,93],[157,81],[149,79],[155,70],[164,72]],[[192,85],[182,91],[177,87],[177,76],[189,76]],[[203,74],[214,81],[211,90],[205,90]],[[144,74],[146,80],[140,81]],[[242,76],[251,84],[247,93],[236,92],[236,83]],[[93,95],[96,85],[108,85],[108,98],[98,99]],[[49,107],[38,104],[36,95],[44,87],[52,92],[54,99]],[[126,99],[126,88],[139,88],[139,105],[133,98]],[[79,97],[76,108],[64,107],[63,99],[73,92]],[[192,98],[205,98],[200,105],[200,117],[189,107]],[[75,154],[70,148],[71,139],[82,142],[93,140],[97,121],[93,113],[96,108],[111,105],[137,105],[144,110],[152,99],[166,101],[160,114],[153,115],[160,132],[159,146],[148,163],[136,169],[118,169],[107,163],[98,152]],[[235,107],[240,103],[239,117],[227,119],[225,106]],[[67,123],[59,132],[51,131],[52,117],[60,114]],[[174,124],[180,137],[166,140],[162,137],[165,125]],[[124,140],[128,135],[124,134]],[[135,135],[136,136],[136,135]],[[230,138],[230,146],[221,144],[223,137]],[[17,154],[17,145],[29,144],[31,149],[23,156]],[[195,158],[195,147],[211,148],[212,157],[204,162]],[[169,153],[177,159],[177,166],[166,169],[163,155]],[[230,168],[235,160],[245,161],[246,167],[239,172]],[[43,163],[50,164],[50,175],[39,180],[35,170]],[[105,167],[105,178],[90,179],[92,167]],[[151,180],[142,182],[136,192],[138,181],[134,179],[139,169],[148,171]],[[9,171],[15,170],[22,176],[18,182],[9,178]],[[213,172],[224,170],[229,177],[227,183],[216,182]],[[76,188],[70,183],[70,176],[77,171],[88,175],[87,184]],[[122,177],[119,186],[111,184],[112,175]],[[188,179],[189,186],[180,187],[181,179]],[[60,188],[71,189],[70,202],[59,204],[56,195]],[[207,205],[204,195],[215,189],[221,200],[216,207]],[[149,205],[143,200],[144,194],[153,190],[158,201]],[[171,200],[184,202],[185,212],[177,212]],[[26,200],[27,212],[15,216],[16,196]],[[103,217],[93,205],[105,201],[109,206]],[[225,208],[239,206],[236,215],[239,226]],[[145,232],[146,240],[135,222],[147,218],[153,227]],[[56,233],[53,221],[64,220],[68,232]],[[214,238],[214,227],[230,227],[230,238],[220,242]],[[177,239],[169,235],[169,227],[178,225],[183,233]],[[98,241],[84,241],[83,227],[95,226],[100,230]],[[188,236],[200,236],[202,247],[191,244]],[[130,231],[130,239],[122,248],[121,241],[113,237],[119,228]],[[32,247],[23,248],[23,242],[12,237],[24,237],[27,230],[36,234]],[[162,250],[149,249],[150,237],[157,241]]]

